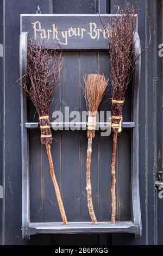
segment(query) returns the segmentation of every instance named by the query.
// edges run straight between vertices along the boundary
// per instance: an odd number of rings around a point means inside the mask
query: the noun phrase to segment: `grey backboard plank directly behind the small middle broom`
[[[96,74],[98,71],[98,52],[81,52],[80,53],[80,83],[84,84],[83,76],[85,74]],[[81,94],[81,108],[85,106],[83,92]],[[84,108],[85,109],[85,108]],[[83,110],[83,108],[82,108]],[[91,185],[92,199],[95,215],[99,221],[99,132],[96,131],[96,137],[92,141],[92,157],[91,157]],[[87,139],[83,132],[80,137],[81,149],[81,168],[82,168],[82,194],[81,194],[81,216],[82,221],[91,221],[89,211],[87,209],[87,194],[86,194],[86,150]]]

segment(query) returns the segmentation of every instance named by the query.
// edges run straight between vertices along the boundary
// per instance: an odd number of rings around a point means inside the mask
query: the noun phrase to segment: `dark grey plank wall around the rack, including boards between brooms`
[[[4,57],[3,57],[3,97],[1,93],[0,108],[2,108],[3,98],[3,137],[2,126],[1,138],[3,138],[3,152],[1,154],[1,164],[3,163],[3,211],[1,243],[3,244],[53,244],[53,245],[70,245],[74,242],[77,245],[117,245],[117,244],[156,244],[161,243],[161,212],[162,201],[158,202],[158,218],[159,228],[157,230],[156,215],[156,193],[155,181],[157,168],[157,107],[160,113],[159,104],[161,99],[157,101],[157,95],[161,95],[161,60],[157,57],[157,43],[161,40],[157,39],[155,31],[157,31],[157,19],[159,19],[162,1],[137,1],[130,0],[130,3],[138,3],[140,11],[139,16],[139,34],[143,42],[147,42],[148,22],[147,11],[151,20],[152,42],[149,51],[142,56],[142,75],[141,88],[139,92],[140,99],[140,123],[139,123],[139,168],[140,168],[140,199],[142,214],[142,237],[135,240],[131,234],[85,234],[85,235],[36,235],[31,236],[30,241],[22,240],[21,232],[21,115],[20,115],[20,89],[16,80],[19,78],[19,35],[20,35],[20,14],[36,13],[37,5],[39,5],[42,13],[82,13],[96,14],[98,11],[99,1],[12,1],[6,0],[3,11],[3,37],[4,37]],[[101,12],[116,13],[117,5],[123,5],[125,1],[101,0]],[[2,1],[1,5],[2,7]],[[2,13],[2,8],[0,14]],[[158,16],[157,16],[158,14]],[[0,19],[2,18],[2,15]],[[0,32],[2,29],[0,30]],[[0,40],[1,40],[0,34]],[[158,41],[157,41],[158,40]],[[1,41],[0,41],[1,43]],[[106,65],[108,63],[108,54],[104,52],[65,52],[64,66],[61,78],[61,86],[57,88],[55,93],[54,104],[52,110],[70,106],[70,109],[81,110],[85,108],[82,89],[79,81],[83,81],[85,72],[94,72],[95,70],[103,70],[105,74],[109,74]],[[0,57],[1,58],[1,57]],[[1,59],[0,59],[1,62]],[[158,66],[156,65],[158,63]],[[67,68],[68,66],[68,68]],[[1,66],[0,66],[1,68]],[[66,75],[67,74],[67,75]],[[72,74],[76,74],[73,76]],[[158,78],[156,80],[155,78]],[[2,84],[2,69],[0,75],[0,83]],[[157,89],[159,88],[159,89]],[[2,90],[2,87],[1,87]],[[72,95],[69,92],[73,92]],[[128,90],[128,103],[124,108],[124,120],[130,121],[130,94]],[[105,95],[101,108],[109,107],[106,98],[110,97],[110,91]],[[60,99],[62,104],[60,105]],[[157,102],[158,105],[157,105]],[[29,120],[33,120],[34,108],[29,103]],[[159,115],[159,116],[160,116]],[[1,115],[0,115],[1,118]],[[35,117],[36,118],[36,117]],[[159,120],[159,119],[158,119]],[[1,122],[2,124],[2,122]],[[159,130],[160,131],[160,130]],[[53,155],[55,159],[55,168],[58,170],[57,178],[64,196],[64,203],[68,210],[67,215],[70,220],[89,220],[86,207],[85,196],[85,153],[86,153],[86,135],[84,131],[58,131],[53,132],[53,136],[57,142],[53,143]],[[161,131],[160,131],[161,134]],[[160,137],[159,137],[160,138]],[[161,139],[161,138],[160,138]],[[1,143],[1,141],[0,141]],[[130,131],[124,130],[118,141],[118,166],[117,166],[117,182],[119,184],[117,191],[117,217],[119,220],[128,220],[130,217]],[[58,218],[59,214],[54,211],[55,202],[54,191],[51,180],[47,172],[47,160],[45,150],[42,149],[39,142],[39,132],[37,130],[30,131],[30,154],[31,154],[31,180],[30,189],[35,197],[32,198],[31,218],[40,221],[53,221]],[[100,137],[97,133],[93,141],[93,161],[92,168],[95,169],[95,175],[92,177],[92,187],[95,200],[95,210],[99,220],[106,220],[110,215],[110,197],[105,191],[105,187],[110,183],[109,164],[111,154],[111,136]],[[33,157],[35,155],[35,158]],[[36,162],[40,162],[42,157],[41,172],[35,172]],[[107,164],[106,164],[107,163]],[[160,165],[161,166],[161,165]],[[41,168],[42,167],[42,168]],[[38,166],[37,166],[38,168]],[[67,175],[66,169],[71,168],[72,177]],[[105,176],[106,179],[102,179]],[[95,178],[96,177],[96,178]],[[0,176],[0,182],[2,176]],[[35,180],[37,181],[35,183]],[[78,182],[77,182],[78,181]],[[37,186],[35,186],[37,184]],[[70,184],[70,186],[67,186]],[[1,185],[1,184],[0,184]],[[42,190],[42,187],[45,188]],[[1,199],[0,199],[1,200]],[[163,200],[163,199],[162,199]],[[107,204],[105,204],[107,202]],[[2,200],[1,200],[2,203]],[[0,204],[1,206],[1,204]],[[73,210],[72,210],[73,209]],[[54,212],[54,214],[53,214]],[[56,212],[56,215],[55,215]],[[1,217],[1,215],[0,215]],[[60,221],[60,220],[59,220]],[[1,222],[0,222],[1,224]],[[158,239],[158,240],[157,240]]]

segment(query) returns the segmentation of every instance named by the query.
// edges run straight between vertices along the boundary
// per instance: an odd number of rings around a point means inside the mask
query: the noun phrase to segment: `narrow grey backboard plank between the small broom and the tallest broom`
[[[109,53],[99,51],[99,73],[110,77]],[[110,81],[106,88],[105,95],[99,106],[99,111],[111,109],[111,87]],[[99,193],[100,193],[100,220],[110,221],[111,216],[111,197],[110,197],[110,166],[112,136],[99,137]]]

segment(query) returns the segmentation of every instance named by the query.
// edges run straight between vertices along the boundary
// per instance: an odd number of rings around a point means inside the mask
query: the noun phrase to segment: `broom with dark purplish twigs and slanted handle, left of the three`
[[[52,55],[54,57],[53,62]],[[54,50],[47,50],[42,45],[38,47],[34,42],[29,40],[27,59],[27,84],[23,84],[22,87],[26,90],[27,95],[34,103],[36,111],[39,114],[41,143],[46,145],[50,174],[58,200],[62,221],[64,224],[68,224],[54,173],[51,154],[52,131],[49,121],[49,108],[53,101],[54,89],[61,69],[61,51],[59,53]]]

